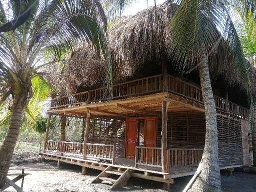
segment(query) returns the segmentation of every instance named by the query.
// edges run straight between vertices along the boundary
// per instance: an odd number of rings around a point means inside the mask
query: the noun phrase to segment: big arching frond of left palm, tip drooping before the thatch
[[[79,9],[74,8],[78,5]],[[98,55],[101,52],[107,61],[108,78],[106,82],[109,85],[112,83],[111,59],[106,33],[101,27],[106,28],[106,23],[104,19],[100,19],[100,22],[96,21],[94,6],[94,3],[88,4],[83,0],[70,1],[69,4],[57,3],[55,11],[50,17],[54,22],[49,27],[50,31],[45,31],[44,40],[47,41],[47,49],[54,51],[56,59],[61,58],[63,52],[72,52],[79,42],[87,41],[92,44]]]

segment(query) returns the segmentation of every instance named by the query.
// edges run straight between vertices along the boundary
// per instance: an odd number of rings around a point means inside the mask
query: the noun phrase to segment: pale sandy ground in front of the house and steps
[[[24,191],[56,191],[56,192],[77,192],[77,191],[110,191],[107,182],[90,184],[99,173],[94,169],[87,169],[87,175],[81,175],[81,167],[70,164],[63,164],[61,169],[56,167],[55,162],[22,163],[16,167],[28,168],[25,172]],[[20,170],[10,171],[20,172]],[[190,176],[174,179],[171,191],[182,191]],[[20,185],[21,181],[17,182]],[[233,176],[221,176],[223,192],[254,192],[256,191],[256,174],[234,171]],[[119,191],[163,191],[162,183],[152,182],[144,179],[131,177],[127,186]],[[9,187],[5,191],[15,191]]]

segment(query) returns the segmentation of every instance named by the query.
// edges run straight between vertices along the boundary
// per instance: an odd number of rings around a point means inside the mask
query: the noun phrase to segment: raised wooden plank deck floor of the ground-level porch
[[[114,164],[110,162],[102,162],[96,159],[87,158],[86,160],[82,159],[81,154],[73,154],[73,153],[62,153],[58,151],[45,151],[44,153],[40,153],[42,158],[51,159],[56,161],[61,161],[69,164],[76,164],[80,166],[85,166],[88,168],[94,168],[98,170],[103,170],[106,166],[113,166],[116,168],[129,168],[136,170],[137,172],[147,172],[153,175],[168,175],[169,173],[163,173],[161,168],[151,167],[139,165],[137,168],[134,167],[134,159],[116,157]],[[232,168],[232,167],[240,167],[242,165],[231,165],[231,166],[223,166],[220,169]],[[182,176],[188,176],[195,173],[197,166],[175,166],[170,167],[170,178],[177,178]]]

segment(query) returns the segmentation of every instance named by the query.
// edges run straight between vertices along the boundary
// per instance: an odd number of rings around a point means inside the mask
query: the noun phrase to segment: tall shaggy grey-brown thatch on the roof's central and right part
[[[167,65],[171,65],[169,73],[184,75],[199,63],[199,60],[190,60],[187,65],[178,63],[169,49],[171,44],[168,25],[175,11],[175,4],[165,2],[155,7],[145,9],[134,16],[122,17],[116,21],[109,32],[109,42],[113,65],[126,66],[129,74],[133,74],[144,64],[162,64],[167,56]],[[216,29],[217,30],[217,29]],[[219,75],[231,86],[239,84],[246,89],[239,71],[236,69],[231,48],[219,34],[219,41],[214,49],[208,53],[211,78],[214,82]],[[196,58],[197,56],[191,56]],[[198,56],[199,58],[199,56]],[[123,68],[123,67],[120,67]],[[118,68],[117,68],[118,69]],[[196,69],[196,67],[195,67]],[[119,71],[118,74],[122,74]],[[126,72],[126,71],[125,71]]]

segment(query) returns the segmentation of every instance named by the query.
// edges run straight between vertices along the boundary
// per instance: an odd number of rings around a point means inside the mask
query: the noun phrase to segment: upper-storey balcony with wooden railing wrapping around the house
[[[135,80],[130,80],[112,86],[111,91],[106,87],[87,90],[67,96],[51,99],[48,112],[55,112],[66,108],[78,106],[89,107],[97,103],[109,104],[113,100],[127,100],[138,96],[146,97],[154,93],[168,93],[171,99],[175,96],[175,102],[193,109],[203,109],[201,88],[195,83],[190,83],[172,75],[153,75]],[[166,97],[166,95],[163,95]],[[218,113],[234,115],[240,118],[248,118],[249,110],[226,98],[214,95],[216,110]],[[183,103],[183,104],[182,104]],[[127,107],[126,107],[127,108]]]

